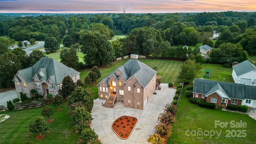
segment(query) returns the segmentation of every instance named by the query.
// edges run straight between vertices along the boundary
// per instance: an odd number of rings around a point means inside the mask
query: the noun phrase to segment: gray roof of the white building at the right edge
[[[240,62],[239,64],[232,66],[232,68],[236,72],[237,76],[240,76],[252,70],[256,70],[256,66],[254,66],[254,64],[252,64],[248,60]]]

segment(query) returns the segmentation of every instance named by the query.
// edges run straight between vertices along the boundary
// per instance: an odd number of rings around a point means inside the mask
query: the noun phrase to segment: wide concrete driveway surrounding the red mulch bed
[[[114,108],[102,106],[102,99],[94,100],[92,108],[92,126],[99,139],[104,144],[148,144],[148,136],[154,133],[154,127],[164,106],[173,101],[176,89],[168,88],[168,84],[160,84],[161,90],[156,90],[144,106],[144,110],[124,107],[123,102],[116,102]],[[120,116],[133,116],[138,119],[130,137],[120,139],[112,130],[112,123]]]

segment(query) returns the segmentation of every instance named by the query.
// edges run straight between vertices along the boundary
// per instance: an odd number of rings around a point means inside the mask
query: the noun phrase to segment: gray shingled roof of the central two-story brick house
[[[140,62],[137,59],[130,59],[128,60],[123,66],[118,67],[116,70],[120,70],[122,72],[122,76],[128,80],[132,76],[134,76],[138,82],[141,84],[142,88],[145,88],[150,80],[155,76],[156,71],[144,64],[143,62]],[[114,70],[110,75],[108,75],[105,79],[107,79],[111,75],[116,75]],[[116,77],[116,76],[115,76]]]

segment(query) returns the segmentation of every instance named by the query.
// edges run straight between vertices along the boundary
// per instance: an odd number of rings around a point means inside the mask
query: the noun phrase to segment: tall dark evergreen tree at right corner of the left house
[[[65,76],[62,80],[62,87],[59,93],[63,98],[69,96],[75,90],[76,84],[73,82],[70,76]]]

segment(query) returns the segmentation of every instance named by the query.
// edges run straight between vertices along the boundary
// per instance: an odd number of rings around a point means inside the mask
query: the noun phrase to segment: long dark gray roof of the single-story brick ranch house
[[[256,100],[256,86],[247,86],[244,84],[235,84],[231,82],[219,82],[213,80],[194,79],[193,92],[207,94],[216,84],[220,84],[222,89],[230,98],[242,99],[249,98]]]

